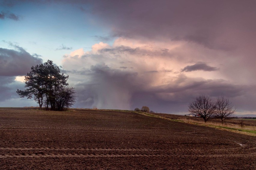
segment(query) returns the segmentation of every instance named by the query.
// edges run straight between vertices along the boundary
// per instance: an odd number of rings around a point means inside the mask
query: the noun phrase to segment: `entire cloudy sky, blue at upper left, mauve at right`
[[[75,108],[186,114],[224,95],[256,114],[256,1],[0,0],[0,107],[20,98],[31,66],[53,60]]]

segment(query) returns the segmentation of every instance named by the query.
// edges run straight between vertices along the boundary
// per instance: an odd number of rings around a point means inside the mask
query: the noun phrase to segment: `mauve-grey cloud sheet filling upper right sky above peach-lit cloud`
[[[185,42],[191,52],[185,57],[190,57],[191,63],[207,62],[217,68],[224,64],[223,75],[228,79],[256,83],[255,1],[140,0],[92,4],[92,13],[102,25],[112,28],[113,36]]]

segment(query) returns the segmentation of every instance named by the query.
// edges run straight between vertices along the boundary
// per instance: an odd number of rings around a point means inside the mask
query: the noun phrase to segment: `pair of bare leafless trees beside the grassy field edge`
[[[188,112],[191,115],[203,118],[204,122],[209,119],[218,118],[221,119],[223,124],[224,120],[232,118],[236,108],[224,96],[217,97],[216,100],[209,96],[199,96],[188,105]]]

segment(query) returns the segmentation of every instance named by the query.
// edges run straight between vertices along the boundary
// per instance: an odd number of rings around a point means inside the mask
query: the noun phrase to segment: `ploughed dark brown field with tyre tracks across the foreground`
[[[130,111],[0,108],[3,169],[255,169],[256,137]]]

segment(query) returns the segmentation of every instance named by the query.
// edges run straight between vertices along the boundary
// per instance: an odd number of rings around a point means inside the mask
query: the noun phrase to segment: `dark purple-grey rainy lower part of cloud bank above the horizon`
[[[111,69],[105,64],[91,66],[87,73],[86,81],[75,85],[78,94],[76,105],[87,108],[134,109],[146,105],[159,113],[184,113],[189,102],[198,95],[215,98],[224,94],[242,109],[245,106],[239,104],[237,98],[250,93],[246,85],[233,85],[222,79],[189,78],[183,74],[166,85],[152,86],[154,79],[150,79],[151,76],[141,77],[139,73]],[[250,109],[256,107],[250,105]]]

